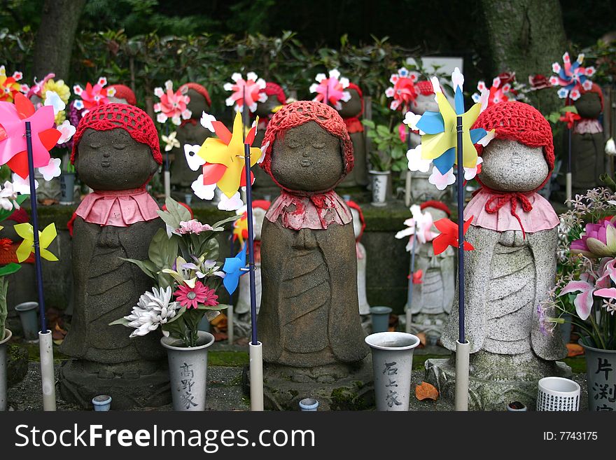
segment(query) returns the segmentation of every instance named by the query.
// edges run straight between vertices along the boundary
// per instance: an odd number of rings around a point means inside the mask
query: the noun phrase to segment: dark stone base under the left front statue
[[[62,398],[84,409],[92,409],[92,398],[99,394],[111,396],[112,410],[160,407],[171,403],[169,370],[163,366],[147,375],[114,372],[118,365],[98,364],[104,371],[89,372],[93,363],[66,361],[59,370]],[[116,369],[117,370],[117,369]]]

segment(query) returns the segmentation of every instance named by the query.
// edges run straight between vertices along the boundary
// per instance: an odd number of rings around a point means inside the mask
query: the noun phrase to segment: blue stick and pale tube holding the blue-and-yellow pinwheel
[[[462,117],[457,117],[458,134],[458,341],[456,342],[456,410],[468,410],[468,360],[470,344],[464,334],[464,165]]]

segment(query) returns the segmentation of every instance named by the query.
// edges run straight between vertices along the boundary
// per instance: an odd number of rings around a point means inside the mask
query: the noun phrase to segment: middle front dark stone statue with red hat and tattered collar
[[[330,106],[293,102],[272,118],[262,149],[281,188],[262,227],[264,360],[295,372],[360,361],[352,215],[332,190],[353,168],[346,125]]]

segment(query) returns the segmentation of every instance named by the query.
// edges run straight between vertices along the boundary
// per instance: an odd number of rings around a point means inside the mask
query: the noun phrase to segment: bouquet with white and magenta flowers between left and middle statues
[[[216,262],[215,236],[238,216],[208,225],[191,218],[188,209],[172,198],[167,198],[165,207],[158,214],[167,229],[158,230],[152,239],[148,259],[125,259],[151,277],[154,286],[141,295],[131,314],[110,326],[134,328],[130,337],[146,335],[160,326],[163,335],[181,340],[184,347],[195,347],[204,314],[211,320],[228,307],[219,304],[216,295],[225,272]]]

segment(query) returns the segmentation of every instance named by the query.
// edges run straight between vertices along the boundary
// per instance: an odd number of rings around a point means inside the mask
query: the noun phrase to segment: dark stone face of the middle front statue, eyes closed
[[[343,171],[340,140],[314,121],[287,130],[272,146],[272,176],[289,190],[330,190]]]

